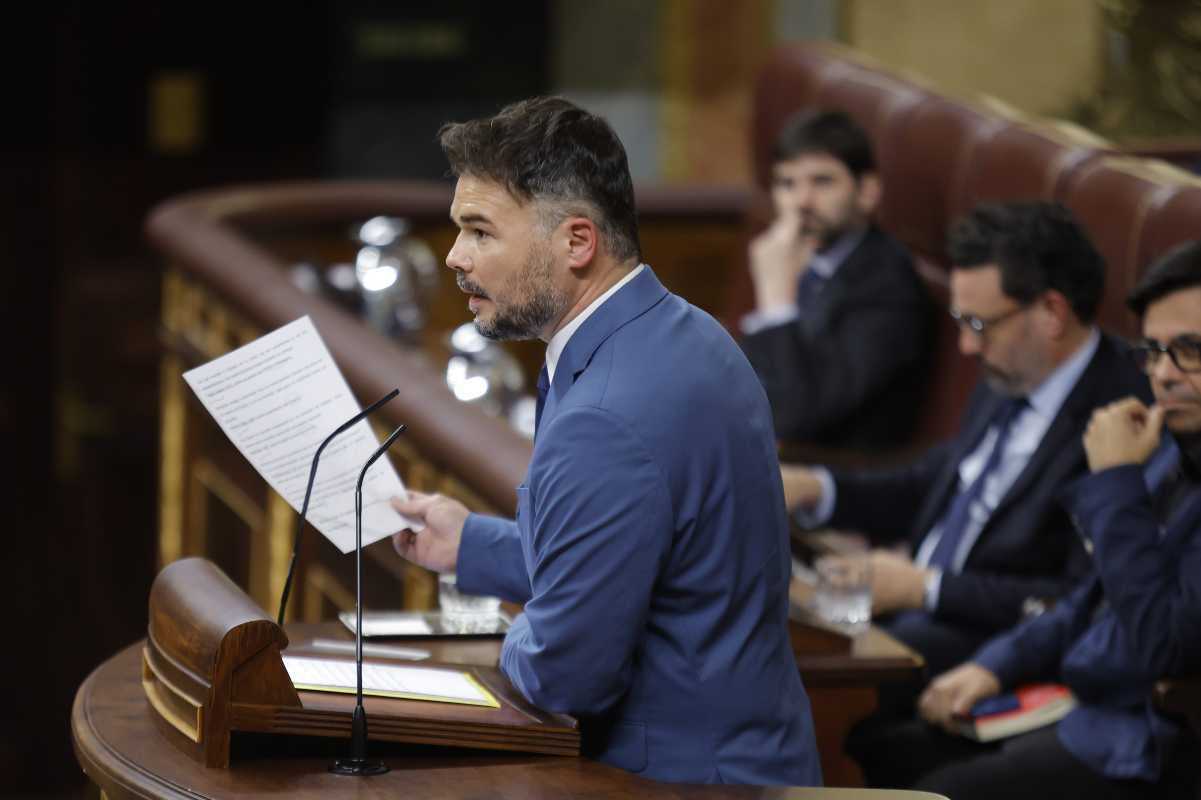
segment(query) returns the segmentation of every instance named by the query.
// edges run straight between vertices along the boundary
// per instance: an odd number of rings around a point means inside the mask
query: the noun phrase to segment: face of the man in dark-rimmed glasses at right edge
[[[1148,305],[1142,335],[1164,345],[1179,336],[1201,338],[1201,287],[1172,292]],[[1155,402],[1164,408],[1164,424],[1177,434],[1201,432],[1201,374],[1182,372],[1161,353],[1147,375]]]

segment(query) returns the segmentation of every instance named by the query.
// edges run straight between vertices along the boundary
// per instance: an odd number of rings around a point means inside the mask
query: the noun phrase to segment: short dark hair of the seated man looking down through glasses
[[[952,269],[996,264],[1000,288],[1018,303],[1047,289],[1063,294],[1081,322],[1092,322],[1105,289],[1105,259],[1059,203],[985,203],[951,226]]]

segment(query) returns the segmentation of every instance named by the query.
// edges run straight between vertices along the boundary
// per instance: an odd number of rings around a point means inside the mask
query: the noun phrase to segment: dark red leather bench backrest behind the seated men
[[[908,245],[945,308],[949,225],[984,201],[1054,199],[1088,229],[1109,273],[1100,323],[1136,333],[1125,295],[1146,264],[1201,237],[1201,181],[1155,162],[1117,159],[1107,144],[1064,124],[1022,119],[999,103],[967,103],[829,43],[777,50],[759,77],[752,147],[760,186],[781,125],[802,108],[852,114],[876,145],[884,180],[880,225]],[[954,430],[975,365],[939,321],[936,377],[915,443]]]

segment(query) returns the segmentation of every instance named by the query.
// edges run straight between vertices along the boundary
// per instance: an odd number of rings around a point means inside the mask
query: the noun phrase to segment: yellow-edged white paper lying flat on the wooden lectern
[[[298,689],[354,692],[354,661],[283,656],[283,667]],[[496,698],[468,673],[430,667],[363,664],[363,693],[408,700],[459,703],[501,708]]]

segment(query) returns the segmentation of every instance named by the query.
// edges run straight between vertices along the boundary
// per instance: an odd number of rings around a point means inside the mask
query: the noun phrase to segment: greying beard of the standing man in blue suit
[[[486,298],[496,306],[491,318],[476,317],[476,330],[495,341],[524,341],[540,336],[546,326],[563,314],[568,303],[567,294],[555,287],[552,267],[554,261],[546,247],[537,243],[530,245],[521,269],[504,281],[496,297],[459,273],[459,288]],[[509,302],[507,298],[514,299]]]

